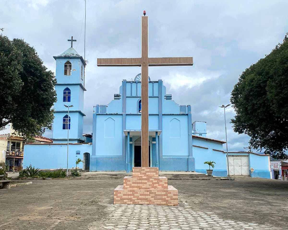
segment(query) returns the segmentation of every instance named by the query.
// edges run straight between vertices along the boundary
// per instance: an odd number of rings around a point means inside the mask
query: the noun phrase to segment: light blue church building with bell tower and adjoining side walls
[[[25,144],[23,166],[66,168],[69,130],[69,168],[75,160],[89,171],[126,171],[141,166],[141,74],[122,80],[108,105],[93,108],[91,135],[83,135],[86,65],[72,47],[54,56],[57,102],[54,105],[53,144]],[[221,140],[207,138],[206,122],[192,119],[191,106],[179,105],[167,94],[162,80],[149,78],[149,165],[160,171],[206,173],[204,161],[215,161],[213,175],[227,176]],[[67,107],[69,108],[69,115]],[[270,178],[268,155],[232,152],[230,174]]]

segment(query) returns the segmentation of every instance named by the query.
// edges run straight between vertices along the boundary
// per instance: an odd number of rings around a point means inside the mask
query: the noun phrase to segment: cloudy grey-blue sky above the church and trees
[[[194,65],[150,67],[180,105],[191,105],[192,120],[207,122],[207,137],[225,140],[223,109],[245,68],[281,42],[288,32],[288,1],[110,1],[87,0],[84,133],[92,132],[93,105],[108,104],[122,79],[139,67],[97,67],[98,57],[140,57],[141,15],[149,16],[149,57],[193,56]],[[70,47],[84,56],[84,0],[1,0],[0,28],[10,39],[35,47],[55,71],[58,55]],[[233,132],[227,109],[228,150],[244,150],[249,137]],[[51,132],[46,132],[51,137]]]

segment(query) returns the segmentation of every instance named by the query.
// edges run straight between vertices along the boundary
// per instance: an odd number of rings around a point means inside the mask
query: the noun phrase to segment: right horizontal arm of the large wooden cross
[[[149,66],[193,65],[193,57],[149,57]]]

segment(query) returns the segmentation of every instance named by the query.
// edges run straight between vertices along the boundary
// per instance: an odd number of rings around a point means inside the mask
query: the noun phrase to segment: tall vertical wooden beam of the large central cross
[[[149,164],[148,17],[141,17],[141,166]]]

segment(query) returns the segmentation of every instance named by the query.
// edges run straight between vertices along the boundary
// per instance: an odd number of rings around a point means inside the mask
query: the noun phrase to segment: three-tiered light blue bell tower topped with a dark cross
[[[70,40],[68,40],[70,41]],[[86,65],[82,56],[71,47],[58,56],[56,60],[55,90],[57,102],[54,104],[53,143],[67,142],[67,129],[69,129],[69,143],[82,143],[83,139],[83,113],[84,109],[84,67]],[[73,107],[68,108],[66,106]]]

